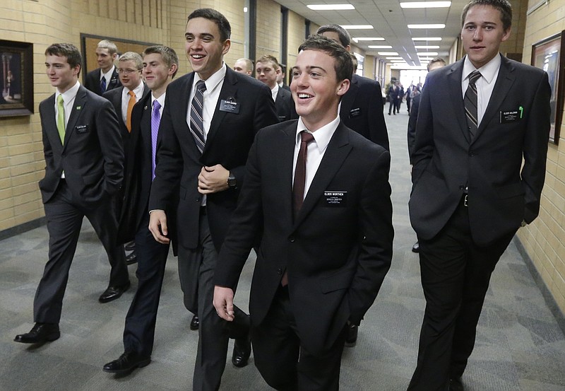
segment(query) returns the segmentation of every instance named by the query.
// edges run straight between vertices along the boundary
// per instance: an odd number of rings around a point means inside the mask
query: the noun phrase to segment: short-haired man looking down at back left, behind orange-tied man
[[[99,68],[86,74],[84,86],[95,93],[102,95],[106,91],[121,86],[118,71],[114,61],[118,58],[118,47],[109,40],[101,40],[96,47],[96,61]]]

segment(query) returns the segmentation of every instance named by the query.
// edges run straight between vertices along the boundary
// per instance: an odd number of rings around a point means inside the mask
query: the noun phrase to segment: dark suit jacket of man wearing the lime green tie
[[[115,194],[124,177],[118,117],[104,98],[81,86],[61,144],[55,122],[55,94],[40,103],[45,176],[40,180],[43,202],[49,202],[65,172],[75,202],[93,207]]]

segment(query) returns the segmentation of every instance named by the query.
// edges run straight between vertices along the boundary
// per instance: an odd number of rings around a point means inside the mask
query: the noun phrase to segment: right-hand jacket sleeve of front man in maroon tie
[[[350,322],[359,325],[373,304],[384,277],[391,267],[394,230],[391,185],[388,171],[391,155],[383,151],[367,177],[359,206],[362,242],[357,271],[347,293]]]

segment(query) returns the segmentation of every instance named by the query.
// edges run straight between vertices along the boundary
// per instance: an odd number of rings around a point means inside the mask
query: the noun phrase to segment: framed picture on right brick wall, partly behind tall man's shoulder
[[[565,85],[565,30],[545,38],[532,46],[532,65],[543,69],[549,75],[549,85],[552,87],[551,130],[549,141],[559,143],[559,129],[563,120],[563,96]]]

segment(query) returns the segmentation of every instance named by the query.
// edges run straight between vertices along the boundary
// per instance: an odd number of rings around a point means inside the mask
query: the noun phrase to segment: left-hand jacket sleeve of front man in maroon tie
[[[234,291],[249,251],[256,244],[257,235],[263,224],[259,168],[257,136],[249,151],[246,181],[239,194],[237,208],[232,214],[230,228],[218,255],[218,264],[214,272],[214,285],[232,288]]]

